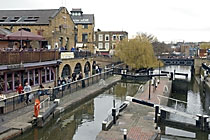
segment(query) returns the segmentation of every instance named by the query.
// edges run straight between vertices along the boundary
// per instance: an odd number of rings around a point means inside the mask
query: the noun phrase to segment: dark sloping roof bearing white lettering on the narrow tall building
[[[71,18],[75,24],[94,24],[94,14],[71,15]]]

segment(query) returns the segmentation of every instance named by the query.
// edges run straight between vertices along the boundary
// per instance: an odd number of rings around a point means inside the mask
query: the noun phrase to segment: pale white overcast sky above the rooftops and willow
[[[95,30],[155,35],[160,41],[210,41],[210,0],[0,0],[0,9],[82,8]]]

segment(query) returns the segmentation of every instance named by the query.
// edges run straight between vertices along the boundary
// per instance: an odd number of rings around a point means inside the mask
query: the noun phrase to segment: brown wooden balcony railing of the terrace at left
[[[55,50],[0,51],[0,65],[52,61],[59,57],[59,52]]]

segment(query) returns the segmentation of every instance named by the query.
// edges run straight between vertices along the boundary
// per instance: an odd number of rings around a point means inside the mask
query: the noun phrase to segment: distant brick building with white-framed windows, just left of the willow
[[[125,31],[96,31],[94,34],[95,51],[99,55],[113,55],[117,43],[128,39]]]

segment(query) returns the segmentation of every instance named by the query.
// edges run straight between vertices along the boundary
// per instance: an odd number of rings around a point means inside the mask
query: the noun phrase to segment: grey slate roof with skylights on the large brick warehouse
[[[54,18],[62,9],[42,10],[0,10],[0,24],[49,24],[49,19]]]

